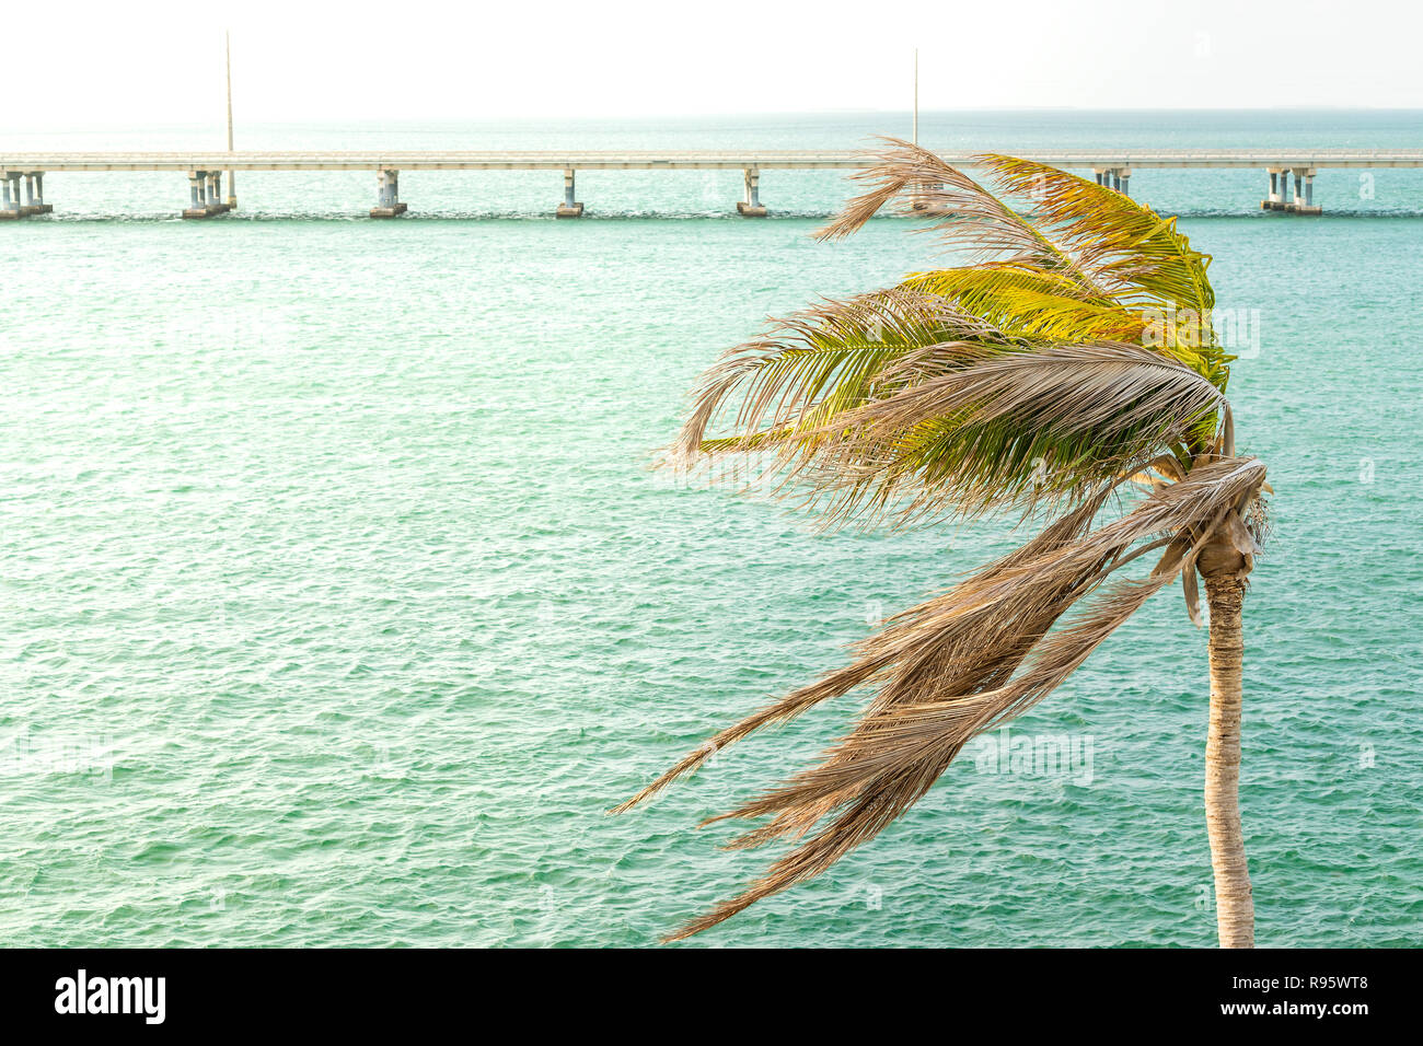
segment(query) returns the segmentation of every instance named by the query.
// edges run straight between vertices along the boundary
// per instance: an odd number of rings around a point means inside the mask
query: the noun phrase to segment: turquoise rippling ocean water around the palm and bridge
[[[243,148],[854,148],[904,115],[242,128]],[[216,130],[0,131],[6,149]],[[1423,114],[931,114],[931,147],[1417,148]],[[0,944],[645,945],[768,854],[696,831],[827,706],[618,818],[689,747],[1015,541],[822,535],[649,471],[768,313],[932,260],[808,233],[834,172],[50,175],[0,226]],[[1266,945],[1419,944],[1423,172],[1138,171],[1254,332],[1231,383],[1275,537],[1247,602],[1242,807]],[[1157,598],[1019,744],[707,945],[1210,945],[1205,638]],[[1003,739],[1005,747],[1010,746]],[[1012,750],[1012,749],[1010,749]],[[1081,759],[1086,756],[1087,759]]]

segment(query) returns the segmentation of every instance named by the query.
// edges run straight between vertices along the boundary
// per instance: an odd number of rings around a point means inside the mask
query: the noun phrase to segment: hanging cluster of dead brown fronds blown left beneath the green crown
[[[1110,494],[1110,487],[1103,488],[1025,548],[889,622],[859,645],[854,665],[822,680],[822,689],[807,687],[724,731],[719,740],[730,743],[825,696],[867,682],[881,685],[858,726],[818,767],[723,815],[773,818],[733,845],[804,835],[834,814],[831,823],[777,861],[746,894],[676,936],[714,925],[810,878],[872,838],[932,786],[969,740],[1050,693],[1153,592],[1170,583],[1262,481],[1264,467],[1249,458],[1215,461],[1154,492],[1127,517],[1084,534]],[[1148,538],[1155,541],[1130,551]],[[1076,623],[1050,630],[1114,571],[1163,544],[1170,548],[1151,576],[1111,586]],[[702,759],[704,753],[693,753],[625,807]]]

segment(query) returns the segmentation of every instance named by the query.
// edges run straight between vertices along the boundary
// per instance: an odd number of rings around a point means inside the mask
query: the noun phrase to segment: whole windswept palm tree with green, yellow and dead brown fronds
[[[874,838],[969,740],[1046,697],[1177,576],[1200,623],[1200,574],[1220,941],[1251,946],[1237,800],[1241,602],[1269,487],[1264,464],[1235,453],[1225,398],[1234,357],[1211,326],[1210,258],[1174,219],[1042,164],[975,158],[990,191],[904,141],[887,139],[871,159],[854,175],[868,191],[820,238],[847,236],[895,204],[928,215],[965,263],[824,302],[733,349],[703,377],[675,453],[684,461],[748,454],[777,491],[804,494],[832,527],[988,512],[1046,525],[892,618],[845,667],[716,734],[616,808],[761,726],[875,689],[818,766],[710,818],[767,818],[730,848],[785,837],[795,845],[740,897],[667,939],[707,929]],[[1146,576],[1118,574],[1148,552],[1160,558]]]

